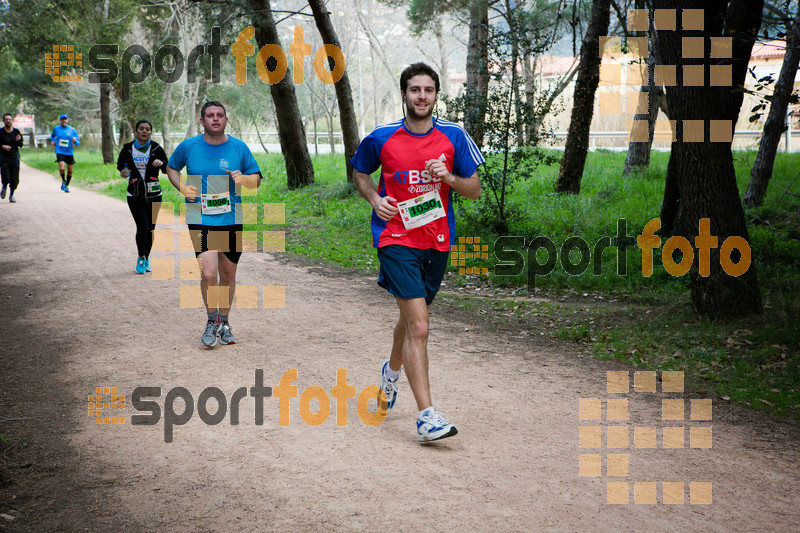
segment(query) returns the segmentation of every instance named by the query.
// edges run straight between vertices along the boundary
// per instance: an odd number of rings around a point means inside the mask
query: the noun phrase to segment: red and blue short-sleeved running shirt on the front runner
[[[378,183],[381,197],[391,196],[402,202],[438,190],[447,213],[446,217],[407,230],[399,214],[387,222],[373,210],[372,245],[375,248],[400,244],[447,252],[455,243],[453,192],[449,185],[439,178],[432,178],[425,170],[425,162],[430,159],[444,161],[451,174],[462,178],[472,176],[485,162],[477,145],[461,126],[435,117],[433,128],[428,133],[411,133],[401,119],[378,126],[361,141],[350,162],[364,174],[381,169]]]

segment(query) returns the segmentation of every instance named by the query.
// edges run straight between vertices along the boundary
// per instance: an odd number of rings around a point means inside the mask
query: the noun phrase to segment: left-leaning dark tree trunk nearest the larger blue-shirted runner
[[[269,0],[249,0],[250,6],[257,13],[254,15],[256,42],[260,49],[267,44],[281,46],[278,27],[272,15]],[[269,62],[268,62],[269,63]],[[269,68],[269,67],[267,67]],[[278,137],[281,152],[286,163],[286,183],[290,189],[305,187],[314,183],[314,166],[308,153],[306,132],[297,105],[294,92],[292,72],[286,68],[286,74],[278,83],[269,86],[275,115],[278,122]]]

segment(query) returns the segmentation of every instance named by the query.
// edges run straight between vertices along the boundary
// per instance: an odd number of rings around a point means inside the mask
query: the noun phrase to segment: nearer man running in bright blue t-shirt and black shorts
[[[221,103],[203,104],[200,122],[205,133],[178,145],[167,163],[167,176],[186,198],[186,222],[200,261],[200,289],[208,313],[200,342],[212,348],[217,342],[236,343],[228,314],[242,255],[240,187],[257,188],[261,170],[247,145],[225,133],[228,117]],[[187,180],[182,184],[184,167]],[[209,301],[208,288],[216,286],[228,287],[227,301]]]

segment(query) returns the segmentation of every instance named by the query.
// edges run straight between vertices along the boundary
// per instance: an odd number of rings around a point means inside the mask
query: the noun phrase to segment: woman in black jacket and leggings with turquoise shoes
[[[154,204],[161,203],[159,171],[165,172],[167,154],[155,141],[150,140],[153,126],[147,120],[136,123],[136,138],[122,146],[117,158],[120,176],[128,180],[128,208],[136,222],[136,272],[151,272],[150,249],[153,247],[155,229]],[[155,206],[158,209],[158,205]]]

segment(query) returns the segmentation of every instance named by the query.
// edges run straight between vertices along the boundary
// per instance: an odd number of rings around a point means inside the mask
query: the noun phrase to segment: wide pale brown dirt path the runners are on
[[[173,387],[195,403],[212,386],[230,399],[253,386],[256,369],[275,387],[296,368],[298,394],[319,386],[330,397],[345,368],[358,394],[376,384],[394,305],[374,278],[245,254],[240,286],[285,286],[285,308],[235,309],[239,344],[205,350],[202,312],[179,304],[180,287],[192,282],[177,279],[177,268],[175,280],[134,273],[124,203],[78,187],[66,195],[53,176],[27,167],[21,182],[17,204],[0,202],[0,434],[17,443],[5,452],[0,529],[790,531],[800,522],[795,425],[718,398],[713,421],[690,421],[687,394],[687,420],[664,425],[710,426],[713,447],[690,448],[687,429],[685,448],[662,449],[659,429],[658,448],[634,448],[633,426],[660,427],[661,400],[684,395],[634,393],[632,372],[629,394],[607,394],[606,371],[627,368],[460,322],[441,305],[432,390],[459,434],[436,445],[416,442],[405,376],[377,427],[360,421],[355,398],[346,427],[336,425],[333,399],[327,421],[309,426],[299,397],[288,427],[278,424],[277,399],[266,398],[258,426],[249,396],[239,425],[229,416],[206,425],[195,412],[172,443],[163,418],[131,425],[131,405],[124,425],[96,425],[87,396],[97,386],[117,387],[129,402],[136,387],[161,387],[163,408]],[[628,422],[579,420],[580,398],[610,397],[629,399]],[[630,449],[578,447],[579,426],[626,423]],[[579,476],[580,453],[603,456],[603,475]],[[611,453],[629,454],[628,476],[606,475]],[[608,481],[628,482],[631,503],[607,504]],[[635,482],[658,482],[658,503],[634,504]],[[661,503],[661,482],[685,482],[685,503]],[[713,503],[690,504],[689,482],[712,483]]]

